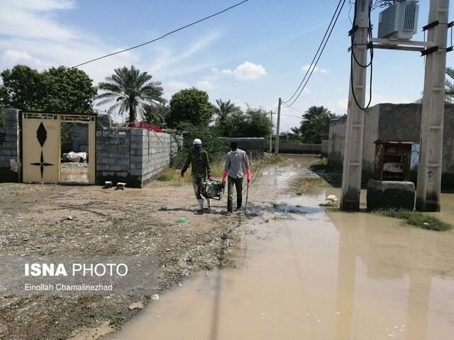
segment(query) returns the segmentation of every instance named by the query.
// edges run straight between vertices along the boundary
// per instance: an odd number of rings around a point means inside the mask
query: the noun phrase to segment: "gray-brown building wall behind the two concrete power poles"
[[[373,106],[365,114],[362,181],[373,177],[375,140],[400,140],[414,142],[419,147],[422,105],[416,103]],[[332,120],[328,164],[342,169],[346,117]],[[443,118],[443,166],[442,183],[454,184],[454,104],[445,105]],[[416,174],[412,175],[412,179]]]

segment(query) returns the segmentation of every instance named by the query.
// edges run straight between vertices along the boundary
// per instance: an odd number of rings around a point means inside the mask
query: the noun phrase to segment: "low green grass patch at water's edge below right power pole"
[[[394,217],[400,220],[404,220],[407,225],[413,225],[428,230],[436,230],[437,232],[443,232],[453,228],[452,225],[438,220],[437,217],[426,215],[423,212],[410,211],[410,210],[399,210],[399,209],[381,209],[375,210],[376,214]]]

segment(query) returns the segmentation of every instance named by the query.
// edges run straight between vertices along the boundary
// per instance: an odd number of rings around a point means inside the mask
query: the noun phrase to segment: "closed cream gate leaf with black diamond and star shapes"
[[[54,113],[23,113],[24,182],[60,181],[60,119]]]

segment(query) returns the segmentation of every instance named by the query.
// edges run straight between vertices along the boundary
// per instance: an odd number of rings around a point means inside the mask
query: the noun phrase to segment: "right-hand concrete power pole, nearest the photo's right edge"
[[[425,27],[427,41],[435,42],[436,47],[425,53],[421,153],[416,188],[416,210],[419,211],[440,211],[448,10],[448,0],[431,0]]]

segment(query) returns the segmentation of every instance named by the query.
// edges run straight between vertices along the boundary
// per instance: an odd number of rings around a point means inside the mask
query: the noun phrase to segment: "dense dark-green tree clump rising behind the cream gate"
[[[96,88],[85,72],[51,67],[38,72],[16,65],[0,74],[0,104],[26,111],[92,112]]]

